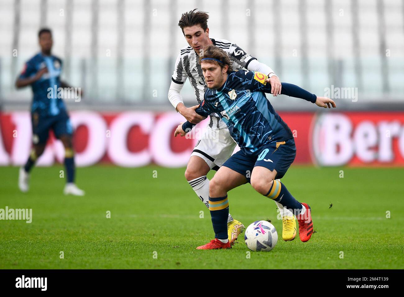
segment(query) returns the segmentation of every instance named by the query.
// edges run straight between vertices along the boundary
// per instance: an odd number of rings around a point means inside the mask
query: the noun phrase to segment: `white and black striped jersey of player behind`
[[[265,74],[273,73],[270,67],[266,66],[265,64],[259,63],[257,61],[257,58],[252,57],[251,55],[246,53],[242,48],[237,46],[237,44],[234,44],[225,39],[215,40],[213,38],[210,38],[210,40],[212,40],[213,45],[227,52],[230,60],[233,61],[234,71],[237,71],[241,68],[246,68],[248,70],[260,71]],[[182,84],[184,84],[185,80],[187,80],[188,78],[189,82],[194,88],[196,100],[198,101],[198,103],[203,100],[204,93],[207,88],[202,72],[202,67],[199,64],[199,59],[200,57],[196,54],[194,49],[191,48],[191,46],[181,48],[181,52],[177,57],[177,61],[175,61],[175,69],[171,78],[175,84],[178,84],[179,90],[181,90]],[[176,96],[174,99],[170,98],[170,101],[173,106],[176,107],[179,102],[182,102],[182,98],[180,96]],[[210,115],[209,127],[216,129],[227,128],[225,123],[220,120],[217,114]]]

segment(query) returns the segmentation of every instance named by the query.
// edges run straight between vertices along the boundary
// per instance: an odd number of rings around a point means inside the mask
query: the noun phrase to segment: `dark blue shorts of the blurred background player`
[[[46,144],[50,130],[55,133],[56,138],[60,138],[61,135],[73,134],[73,126],[66,112],[61,112],[56,116],[40,116],[40,114],[33,112],[31,120],[32,143],[34,144]]]

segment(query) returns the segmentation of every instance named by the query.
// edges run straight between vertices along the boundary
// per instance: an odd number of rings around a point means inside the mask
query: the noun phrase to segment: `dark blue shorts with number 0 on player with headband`
[[[248,182],[255,166],[262,166],[270,171],[275,169],[277,172],[275,179],[280,179],[288,171],[295,156],[296,145],[295,139],[292,138],[265,145],[254,153],[242,149],[232,155],[222,166],[244,175]]]

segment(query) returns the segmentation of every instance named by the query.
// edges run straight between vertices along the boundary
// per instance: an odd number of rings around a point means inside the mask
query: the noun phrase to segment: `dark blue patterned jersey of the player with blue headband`
[[[249,70],[231,72],[221,88],[206,90],[204,101],[195,111],[202,116],[213,112],[219,114],[240,148],[251,153],[263,145],[291,139],[293,135],[288,125],[264,95],[271,92],[266,78],[265,74]],[[317,98],[299,86],[285,82],[282,82],[282,94],[313,103]],[[183,130],[192,126],[185,122]]]

